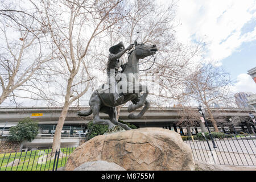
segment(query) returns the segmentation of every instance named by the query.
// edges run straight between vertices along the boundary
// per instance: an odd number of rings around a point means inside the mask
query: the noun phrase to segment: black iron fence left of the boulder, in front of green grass
[[[65,147],[52,152],[45,150],[0,154],[0,171],[56,171],[64,167],[76,147]]]

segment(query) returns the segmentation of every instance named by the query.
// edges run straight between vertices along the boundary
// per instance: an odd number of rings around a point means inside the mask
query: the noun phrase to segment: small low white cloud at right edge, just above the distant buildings
[[[234,85],[233,92],[253,92],[256,93],[256,84],[251,76],[243,73],[237,76],[237,82]]]

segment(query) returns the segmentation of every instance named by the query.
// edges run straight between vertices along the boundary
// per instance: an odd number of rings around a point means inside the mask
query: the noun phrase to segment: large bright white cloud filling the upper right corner
[[[221,61],[244,42],[256,40],[256,28],[242,35],[242,28],[256,21],[254,0],[180,0],[177,37],[183,43],[204,40],[207,59]]]

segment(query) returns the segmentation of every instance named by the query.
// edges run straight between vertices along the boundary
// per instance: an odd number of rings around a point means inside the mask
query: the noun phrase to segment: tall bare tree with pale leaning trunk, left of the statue
[[[56,126],[53,151],[59,150],[61,130],[69,106],[79,102],[93,79],[93,45],[104,39],[105,31],[123,18],[122,0],[118,1],[64,1],[34,2],[41,12],[44,28],[51,32],[56,47],[56,63],[49,70],[57,72],[55,96],[63,98],[64,105]],[[100,52],[100,51],[98,51]]]

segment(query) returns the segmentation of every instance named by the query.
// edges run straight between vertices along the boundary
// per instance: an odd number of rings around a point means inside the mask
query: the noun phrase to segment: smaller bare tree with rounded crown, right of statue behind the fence
[[[192,101],[203,104],[212,122],[214,130],[218,132],[216,121],[213,117],[210,106],[215,104],[228,106],[232,100],[229,74],[220,67],[212,64],[198,65],[185,82],[185,92]]]

